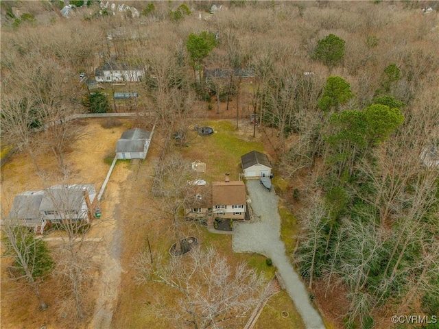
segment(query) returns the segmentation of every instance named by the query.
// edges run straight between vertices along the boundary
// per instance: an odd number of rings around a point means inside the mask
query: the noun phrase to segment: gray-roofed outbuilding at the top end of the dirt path
[[[145,159],[151,142],[151,132],[133,128],[123,132],[116,145],[118,159]]]

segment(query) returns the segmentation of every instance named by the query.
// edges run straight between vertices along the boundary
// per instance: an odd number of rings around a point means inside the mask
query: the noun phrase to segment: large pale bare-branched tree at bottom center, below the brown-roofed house
[[[158,259],[154,257],[154,260]],[[189,258],[150,262],[142,253],[134,259],[137,282],[161,282],[176,291],[177,306],[159,302],[150,312],[167,317],[178,328],[235,328],[242,326],[262,293],[263,278],[240,264],[233,269],[213,248],[193,249]]]

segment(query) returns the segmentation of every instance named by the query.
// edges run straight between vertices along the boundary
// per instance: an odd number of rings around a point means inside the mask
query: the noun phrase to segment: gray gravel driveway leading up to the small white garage
[[[257,252],[272,258],[285,288],[292,298],[305,326],[309,329],[325,328],[320,314],[309,301],[307,289],[294,271],[281,241],[281,218],[278,215],[279,198],[268,191],[259,180],[248,180],[247,189],[252,199],[254,223],[234,223],[233,251]]]

